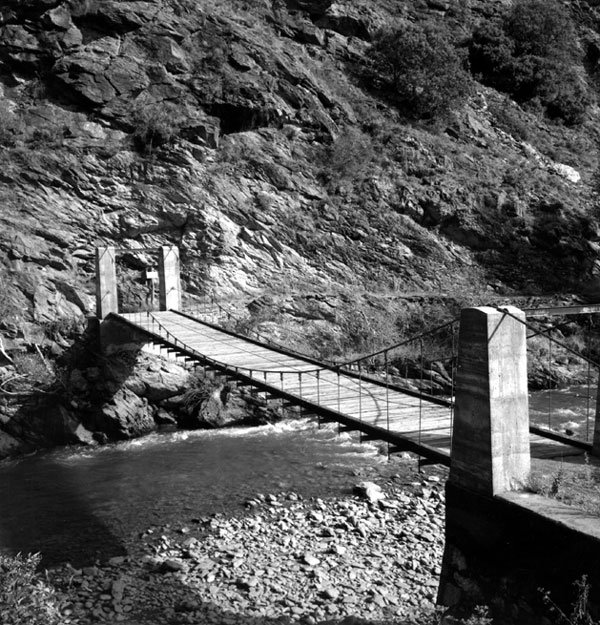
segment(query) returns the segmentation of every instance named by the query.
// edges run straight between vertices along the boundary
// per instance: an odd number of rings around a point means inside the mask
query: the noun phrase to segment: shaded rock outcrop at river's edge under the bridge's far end
[[[282,415],[212,375],[132,351],[73,369],[64,387],[0,406],[0,458],[54,445],[129,440],[162,428],[254,425]]]

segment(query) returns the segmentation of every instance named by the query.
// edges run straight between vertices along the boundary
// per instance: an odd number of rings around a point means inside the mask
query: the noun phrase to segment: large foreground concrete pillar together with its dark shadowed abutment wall
[[[600,606],[600,523],[528,493],[525,315],[465,309],[459,335],[446,542],[438,603],[458,616],[489,606],[494,623],[547,625],[540,588],[568,613],[588,575]],[[557,467],[558,468],[558,467]]]

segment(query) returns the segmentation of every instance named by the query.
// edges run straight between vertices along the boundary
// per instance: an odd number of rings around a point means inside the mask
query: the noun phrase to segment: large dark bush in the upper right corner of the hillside
[[[579,124],[592,98],[580,75],[576,41],[571,17],[557,0],[519,0],[501,22],[473,33],[471,68],[517,102]]]

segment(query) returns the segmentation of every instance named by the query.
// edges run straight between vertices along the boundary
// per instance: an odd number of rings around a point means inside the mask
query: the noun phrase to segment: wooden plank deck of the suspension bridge
[[[121,314],[165,346],[219,370],[242,384],[348,429],[412,451],[431,461],[450,462],[452,407],[434,397],[415,396],[384,380],[341,372],[308,357],[267,346],[174,311]],[[532,456],[578,453],[567,445],[532,435]],[[579,453],[582,453],[579,451]]]

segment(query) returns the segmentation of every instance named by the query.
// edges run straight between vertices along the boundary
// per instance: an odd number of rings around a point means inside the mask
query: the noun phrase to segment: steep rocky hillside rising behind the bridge
[[[98,244],[177,244],[189,294],[315,336],[387,339],[430,297],[593,297],[595,9],[573,3],[592,93],[575,125],[481,82],[414,119],[365,79],[381,27],[438,25],[467,49],[506,6],[5,0],[5,340],[93,313]],[[151,262],[123,257],[124,306]]]

